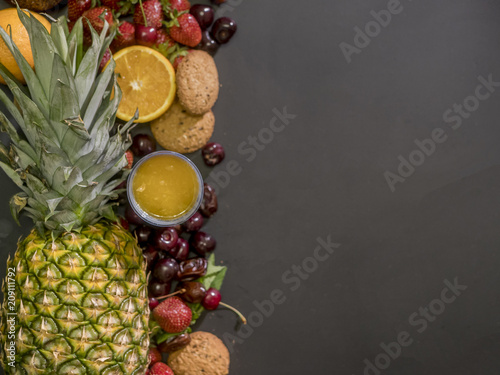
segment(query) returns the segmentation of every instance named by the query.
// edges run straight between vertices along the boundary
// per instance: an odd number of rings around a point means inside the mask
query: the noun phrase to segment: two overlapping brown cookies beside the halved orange
[[[170,109],[151,123],[157,142],[166,150],[187,154],[202,148],[212,136],[212,107],[219,95],[219,74],[214,59],[191,51],[176,73],[177,98]]]

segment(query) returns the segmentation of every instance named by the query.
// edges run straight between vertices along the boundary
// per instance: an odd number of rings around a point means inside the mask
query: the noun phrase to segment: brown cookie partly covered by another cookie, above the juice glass
[[[164,149],[187,154],[205,146],[214,125],[212,111],[192,115],[176,100],[167,112],[151,122],[151,132]]]

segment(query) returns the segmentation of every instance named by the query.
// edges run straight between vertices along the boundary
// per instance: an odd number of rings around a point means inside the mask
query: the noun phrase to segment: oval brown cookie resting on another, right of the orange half
[[[191,51],[177,67],[177,96],[189,112],[202,115],[219,96],[219,73],[214,59],[204,51]]]

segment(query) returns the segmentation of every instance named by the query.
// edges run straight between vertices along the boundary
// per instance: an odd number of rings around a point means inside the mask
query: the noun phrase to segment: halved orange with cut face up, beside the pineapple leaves
[[[138,109],[136,122],[149,122],[164,114],[175,99],[175,71],[170,61],[144,46],[124,48],[113,57],[123,92],[116,116],[129,121]]]

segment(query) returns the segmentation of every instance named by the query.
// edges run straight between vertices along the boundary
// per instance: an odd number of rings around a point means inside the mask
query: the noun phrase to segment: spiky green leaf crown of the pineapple
[[[121,90],[114,61],[99,72],[116,29],[106,36],[107,23],[100,35],[90,27],[93,43],[84,51],[82,19],[70,33],[63,16],[49,33],[28,12],[17,11],[35,69],[13,42],[11,30],[0,28],[27,82],[23,86],[0,64],[0,76],[14,97],[0,90],[6,109],[0,111],[0,131],[10,138],[10,145],[0,146],[0,168],[21,189],[10,200],[11,213],[19,222],[25,211],[41,235],[50,230],[53,236],[102,218],[114,220],[110,199],[129,173],[125,151],[137,118],[115,126]]]

